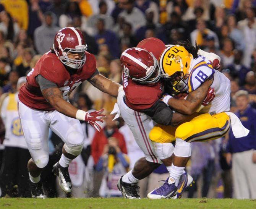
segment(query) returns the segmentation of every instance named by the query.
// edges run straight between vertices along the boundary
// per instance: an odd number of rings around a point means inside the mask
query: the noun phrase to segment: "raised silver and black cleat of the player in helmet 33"
[[[52,172],[59,178],[60,188],[65,193],[70,193],[72,190],[72,182],[68,173],[68,167],[64,168],[57,162],[53,165]]]

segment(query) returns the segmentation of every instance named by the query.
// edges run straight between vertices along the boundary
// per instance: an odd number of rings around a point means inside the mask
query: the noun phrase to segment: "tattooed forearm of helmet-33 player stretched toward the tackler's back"
[[[121,86],[119,83],[111,81],[101,74],[93,76],[88,81],[100,91],[110,94],[113,97],[117,97],[118,88]]]

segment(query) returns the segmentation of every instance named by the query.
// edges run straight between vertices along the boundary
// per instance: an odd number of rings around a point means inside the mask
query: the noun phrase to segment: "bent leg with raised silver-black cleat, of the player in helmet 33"
[[[68,173],[68,166],[83,149],[84,135],[82,126],[79,120],[67,117],[57,111],[47,115],[47,118],[51,121],[51,130],[65,142],[60,160],[53,165],[53,172],[59,178],[59,185],[62,190],[70,193],[72,183]]]

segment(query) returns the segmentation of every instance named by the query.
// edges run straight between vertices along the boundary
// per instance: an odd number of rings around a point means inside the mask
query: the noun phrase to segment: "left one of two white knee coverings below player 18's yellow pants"
[[[172,143],[154,143],[154,149],[156,151],[157,156],[160,160],[166,159],[172,156],[173,153],[173,145]]]

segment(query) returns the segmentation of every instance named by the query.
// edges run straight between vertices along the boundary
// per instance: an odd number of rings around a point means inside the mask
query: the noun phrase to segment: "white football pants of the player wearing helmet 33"
[[[37,167],[43,168],[49,161],[49,128],[68,146],[84,143],[84,135],[79,120],[62,113],[31,109],[18,101],[21,127],[28,149]]]

